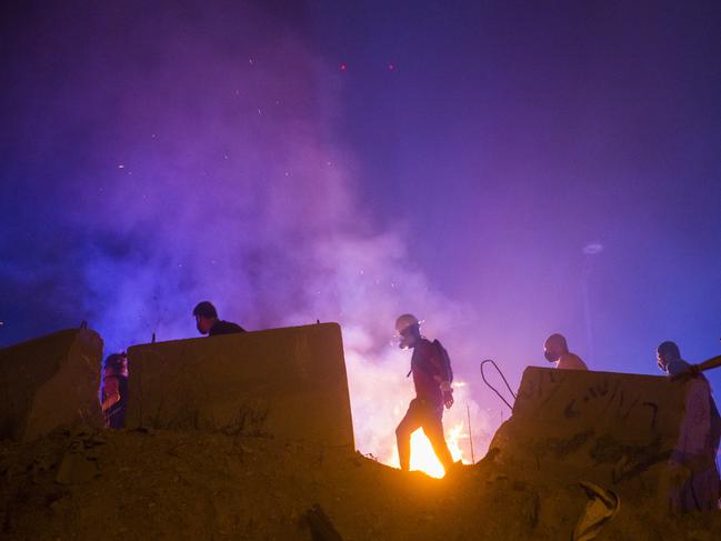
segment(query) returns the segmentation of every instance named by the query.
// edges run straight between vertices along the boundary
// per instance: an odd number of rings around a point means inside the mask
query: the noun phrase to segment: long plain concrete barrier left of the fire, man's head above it
[[[336,323],[137,345],[128,363],[128,428],[354,445]]]

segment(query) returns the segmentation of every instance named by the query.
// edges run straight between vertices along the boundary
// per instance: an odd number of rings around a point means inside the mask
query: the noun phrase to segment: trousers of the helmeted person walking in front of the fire
[[[443,405],[434,405],[423,399],[414,398],[408,405],[405,417],[395,429],[398,441],[398,458],[401,462],[401,470],[408,471],[411,463],[411,434],[419,428],[423,429],[425,437],[433,445],[433,452],[448,472],[453,463],[451,452],[445,444],[443,435]]]

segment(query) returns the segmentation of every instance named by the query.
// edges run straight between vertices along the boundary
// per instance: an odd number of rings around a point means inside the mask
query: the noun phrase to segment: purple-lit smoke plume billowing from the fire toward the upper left
[[[49,325],[88,320],[106,354],[196,335],[200,300],[249,330],[338,321],[357,444],[392,462],[412,392],[410,355],[389,340],[395,317],[425,319],[470,359],[474,315],[414,268],[402,224],[378,230],[359,200],[352,149],[333,132],[342,73],[302,24],[204,6],[16,14],[3,141],[24,161],[4,171],[4,204],[44,219],[18,232],[21,248],[3,242],[3,282],[47,305]],[[468,404],[480,453],[487,414],[468,387],[457,402],[447,428]]]

